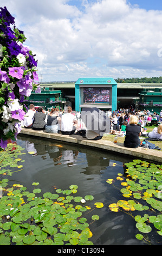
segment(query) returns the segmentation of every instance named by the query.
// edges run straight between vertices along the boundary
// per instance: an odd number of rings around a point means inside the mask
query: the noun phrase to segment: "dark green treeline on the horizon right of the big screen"
[[[133,77],[133,78],[118,78],[115,79],[116,83],[162,83],[162,76],[160,77]]]

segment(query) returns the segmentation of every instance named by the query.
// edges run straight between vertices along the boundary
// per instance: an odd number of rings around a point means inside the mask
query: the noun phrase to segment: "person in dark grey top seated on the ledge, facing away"
[[[34,124],[33,124],[33,130],[45,130],[46,126],[46,114],[43,112],[42,107],[38,107],[38,112],[34,114]]]

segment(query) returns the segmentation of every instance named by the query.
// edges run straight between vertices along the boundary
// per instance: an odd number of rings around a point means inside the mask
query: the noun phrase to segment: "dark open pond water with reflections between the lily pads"
[[[90,194],[95,202],[104,205],[93,211],[100,217],[89,227],[93,234],[90,241],[94,245],[146,245],[135,238],[138,230],[134,219],[125,212],[112,212],[108,207],[122,195],[120,181],[112,186],[106,180],[116,180],[118,173],[124,174],[124,163],[131,162],[132,157],[24,135],[18,136],[17,144],[25,148],[26,154],[22,155],[25,162],[23,169],[9,178],[10,182],[22,184],[29,192],[33,191],[32,183],[39,182],[42,194],[77,185],[77,196]],[[120,189],[116,188],[118,186]],[[88,223],[92,222],[91,216],[86,212]],[[151,242],[158,244],[156,236]]]

